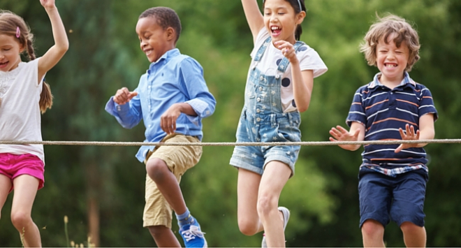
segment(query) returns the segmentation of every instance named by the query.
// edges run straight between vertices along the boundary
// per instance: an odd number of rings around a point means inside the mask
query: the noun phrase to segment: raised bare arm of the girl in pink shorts
[[[38,80],[41,80],[43,75],[57,64],[69,48],[66,29],[54,4],[54,0],[40,0],[40,3],[45,8],[48,17],[50,17],[54,45],[38,61]]]

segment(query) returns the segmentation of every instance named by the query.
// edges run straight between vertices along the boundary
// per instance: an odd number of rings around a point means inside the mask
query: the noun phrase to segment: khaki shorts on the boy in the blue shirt
[[[193,136],[184,136],[182,134],[168,135],[161,142],[164,143],[200,143],[198,138]],[[162,145],[156,147],[154,151],[147,153],[144,163],[147,164],[149,159],[161,159],[165,161],[170,171],[175,175],[177,182],[181,181],[181,176],[186,170],[192,168],[198,163],[202,156],[201,146],[175,146]],[[173,220],[173,209],[167,203],[166,199],[160,193],[155,182],[146,176],[146,205],[142,216],[142,226],[166,226],[171,228]]]

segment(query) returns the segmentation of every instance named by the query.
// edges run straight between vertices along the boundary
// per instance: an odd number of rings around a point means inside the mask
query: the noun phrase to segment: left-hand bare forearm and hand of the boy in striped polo
[[[342,126],[333,127],[330,130],[330,141],[363,141],[365,138],[365,126],[360,122],[352,122],[351,130],[347,131]],[[360,148],[361,145],[339,145],[342,149],[349,149],[355,151]]]

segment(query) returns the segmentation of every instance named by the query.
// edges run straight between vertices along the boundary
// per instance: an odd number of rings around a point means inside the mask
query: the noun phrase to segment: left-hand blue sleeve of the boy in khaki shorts
[[[135,89],[135,92],[136,91]],[[105,111],[115,117],[117,122],[125,129],[132,129],[134,126],[138,125],[142,119],[139,94],[124,105],[115,103],[114,96],[112,96],[108,103],[105,104]]]

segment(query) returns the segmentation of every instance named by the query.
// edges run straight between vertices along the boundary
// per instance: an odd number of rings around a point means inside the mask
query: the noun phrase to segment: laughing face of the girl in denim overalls
[[[264,25],[272,42],[288,41],[294,44],[295,30],[305,17],[305,12],[295,13],[293,6],[285,0],[264,1]]]

